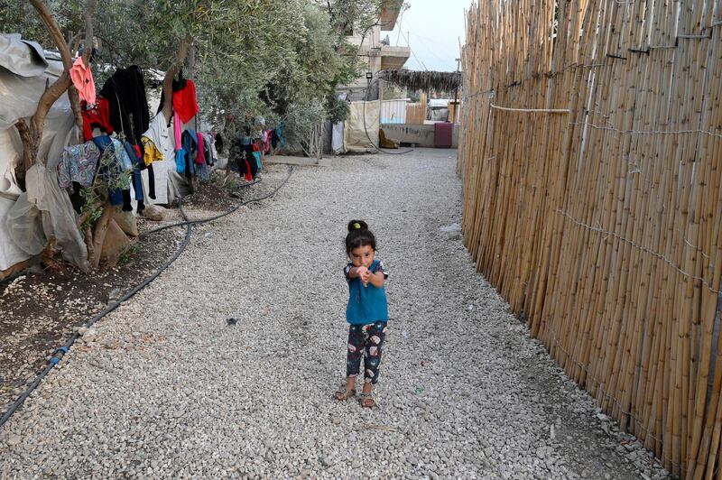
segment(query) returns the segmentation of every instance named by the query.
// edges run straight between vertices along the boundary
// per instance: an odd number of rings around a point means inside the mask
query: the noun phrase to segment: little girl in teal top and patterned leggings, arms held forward
[[[389,319],[384,282],[388,272],[375,260],[376,239],[366,222],[348,222],[346,253],[349,262],[344,269],[348,282],[348,352],[346,388],[336,392],[336,399],[347,400],[356,395],[356,375],[364,357],[364,389],[361,406],[371,408],[371,391],[378,381],[378,366],[384,347],[386,322]]]

